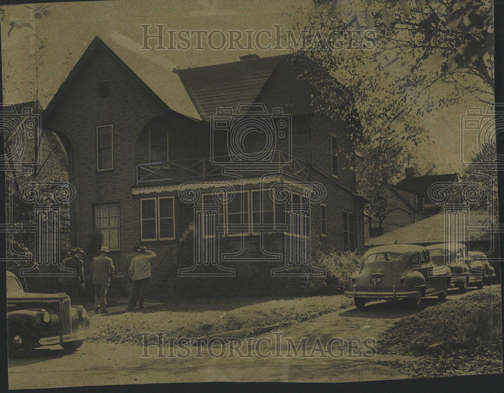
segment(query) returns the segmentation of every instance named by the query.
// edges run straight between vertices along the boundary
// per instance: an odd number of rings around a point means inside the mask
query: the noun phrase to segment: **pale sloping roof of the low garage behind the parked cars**
[[[478,241],[489,238],[487,231],[488,212],[480,210],[469,211],[469,240]],[[435,244],[445,242],[445,214],[439,213],[396,229],[385,235],[369,239],[366,246],[381,246],[385,244]]]

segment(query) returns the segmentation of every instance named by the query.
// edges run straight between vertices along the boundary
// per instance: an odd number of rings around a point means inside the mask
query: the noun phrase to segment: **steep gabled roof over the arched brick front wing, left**
[[[61,84],[56,94],[45,108],[43,114],[44,118],[50,115],[56,102],[61,98],[66,89],[72,85],[72,82],[79,75],[82,67],[93,57],[93,52],[95,50],[107,50],[111,53],[114,58],[127,68],[134,77],[151,92],[153,98],[158,101],[160,105],[167,109],[174,110],[181,115],[201,120],[201,117],[178,78],[178,75],[171,70],[171,65],[169,65],[168,62],[166,67],[162,67],[157,62],[149,62],[146,57],[142,57],[140,54],[112,39],[107,40],[107,43],[105,43],[98,36],[96,36],[86,48],[67,79]]]

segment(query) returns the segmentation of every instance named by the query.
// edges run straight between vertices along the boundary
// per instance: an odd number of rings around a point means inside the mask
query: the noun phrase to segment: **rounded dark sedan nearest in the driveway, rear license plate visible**
[[[345,295],[354,299],[357,308],[377,299],[404,299],[418,308],[425,296],[445,300],[449,286],[450,269],[435,266],[425,247],[392,244],[366,251]]]

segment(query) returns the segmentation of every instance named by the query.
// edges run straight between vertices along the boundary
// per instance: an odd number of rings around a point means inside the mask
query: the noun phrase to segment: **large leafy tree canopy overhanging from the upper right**
[[[298,32],[308,44],[295,56],[299,75],[318,113],[354,126],[358,192],[381,222],[390,210],[382,187],[399,180],[429,140],[420,118],[466,97],[493,101],[492,3],[347,0],[299,15],[307,15]],[[371,39],[348,47],[352,34],[365,32]]]

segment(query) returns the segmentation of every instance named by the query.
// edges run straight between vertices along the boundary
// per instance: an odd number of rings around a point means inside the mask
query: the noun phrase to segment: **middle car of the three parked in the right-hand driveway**
[[[483,288],[480,270],[470,268],[469,254],[462,243],[438,243],[427,246],[434,263],[451,269],[451,282],[459,290],[466,292],[468,287]]]

